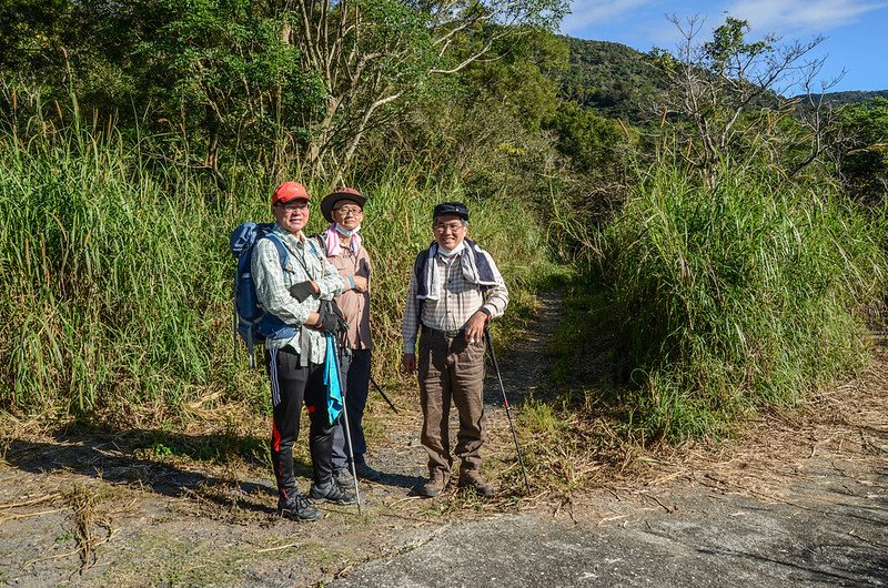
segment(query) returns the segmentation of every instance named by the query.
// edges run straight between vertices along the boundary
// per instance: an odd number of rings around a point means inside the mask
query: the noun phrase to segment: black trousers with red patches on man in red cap
[[[265,367],[271,381],[272,437],[271,463],[282,498],[296,494],[293,474],[293,444],[299,436],[302,404],[309,410],[309,448],[312,456],[312,478],[326,485],[333,477],[330,462],[333,447],[333,425],[326,410],[324,366],[299,365],[299,354],[287,349],[268,349]]]

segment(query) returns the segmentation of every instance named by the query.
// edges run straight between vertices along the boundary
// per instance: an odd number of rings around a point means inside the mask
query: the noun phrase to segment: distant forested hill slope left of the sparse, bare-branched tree
[[[564,40],[571,55],[562,78],[564,99],[633,123],[653,115],[652,99],[666,91],[666,80],[644,53],[607,41]]]

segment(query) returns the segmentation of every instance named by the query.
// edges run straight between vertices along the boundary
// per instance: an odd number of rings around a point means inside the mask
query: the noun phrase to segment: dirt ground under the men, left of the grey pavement
[[[538,348],[555,314],[542,313],[535,334],[507,353],[498,349],[513,403],[542,378]],[[514,460],[493,374],[486,389],[497,438],[490,452]],[[0,585],[311,586],[410,548],[416,529],[496,511],[490,505],[464,510],[455,488],[435,500],[416,495],[425,475],[416,393],[389,393],[400,415],[375,395],[367,415],[370,458],[385,473],[382,481],[362,484],[361,515],[354,507],[324,507],[326,517],[316,524],[273,516],[262,423],[234,435],[219,427],[51,435],[11,422],[0,446]],[[297,443],[303,490],[305,430]],[[231,446],[248,457],[213,458]]]

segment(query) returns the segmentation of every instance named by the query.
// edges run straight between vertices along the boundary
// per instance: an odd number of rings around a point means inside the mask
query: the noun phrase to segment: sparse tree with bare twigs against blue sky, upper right
[[[660,107],[663,120],[678,123],[673,129],[684,143],[680,153],[713,185],[716,169],[726,158],[750,148],[780,145],[763,140],[778,129],[775,120],[794,109],[779,93],[810,85],[824,58],[809,59],[809,54],[823,37],[780,44],[767,34],[750,41],[748,22],[727,17],[713,39],[700,43],[700,19],[672,17],[670,21],[680,33],[676,54],[652,52],[670,84]],[[779,154],[768,155],[779,159]],[[814,158],[806,163],[810,161]]]

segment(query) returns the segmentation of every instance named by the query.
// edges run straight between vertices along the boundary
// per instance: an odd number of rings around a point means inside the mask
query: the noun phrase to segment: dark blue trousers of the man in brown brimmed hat
[[[364,408],[370,389],[370,349],[349,349],[340,354],[340,373],[345,394],[345,410],[349,413],[349,433],[352,436],[355,463],[364,463],[367,450],[364,439]],[[351,458],[345,438],[345,417],[340,416],[333,429],[333,467],[347,467]]]

